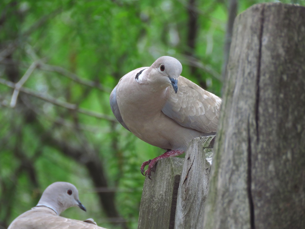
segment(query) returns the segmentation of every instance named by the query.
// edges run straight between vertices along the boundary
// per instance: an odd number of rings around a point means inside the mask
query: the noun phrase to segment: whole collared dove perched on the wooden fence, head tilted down
[[[143,141],[166,152],[147,162],[150,178],[161,158],[184,153],[195,137],[214,135],[221,98],[180,76],[181,63],[162,56],[150,67],[124,75],[110,94],[110,106],[117,120]],[[144,174],[143,174],[144,175]]]

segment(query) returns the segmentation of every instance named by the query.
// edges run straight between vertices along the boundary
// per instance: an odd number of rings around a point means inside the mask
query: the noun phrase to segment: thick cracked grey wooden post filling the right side
[[[305,8],[235,19],[204,228],[305,228]]]

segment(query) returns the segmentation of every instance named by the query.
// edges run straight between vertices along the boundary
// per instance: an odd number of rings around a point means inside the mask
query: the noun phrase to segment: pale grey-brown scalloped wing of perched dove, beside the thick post
[[[221,99],[179,76],[178,92],[170,89],[169,98],[162,112],[182,126],[203,133],[217,131]]]

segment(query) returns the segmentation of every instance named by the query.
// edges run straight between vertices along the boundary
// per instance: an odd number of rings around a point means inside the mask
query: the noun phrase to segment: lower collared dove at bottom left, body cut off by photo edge
[[[67,182],[55,182],[45,189],[36,207],[18,216],[8,229],[103,228],[97,226],[92,219],[84,222],[59,216],[73,206],[86,211],[78,199],[77,188]]]

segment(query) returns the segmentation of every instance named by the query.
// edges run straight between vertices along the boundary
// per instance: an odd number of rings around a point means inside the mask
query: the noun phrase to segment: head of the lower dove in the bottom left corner
[[[54,210],[57,215],[73,206],[78,206],[80,209],[86,211],[84,205],[79,201],[77,188],[67,182],[50,184],[42,193],[36,206],[48,207]]]

